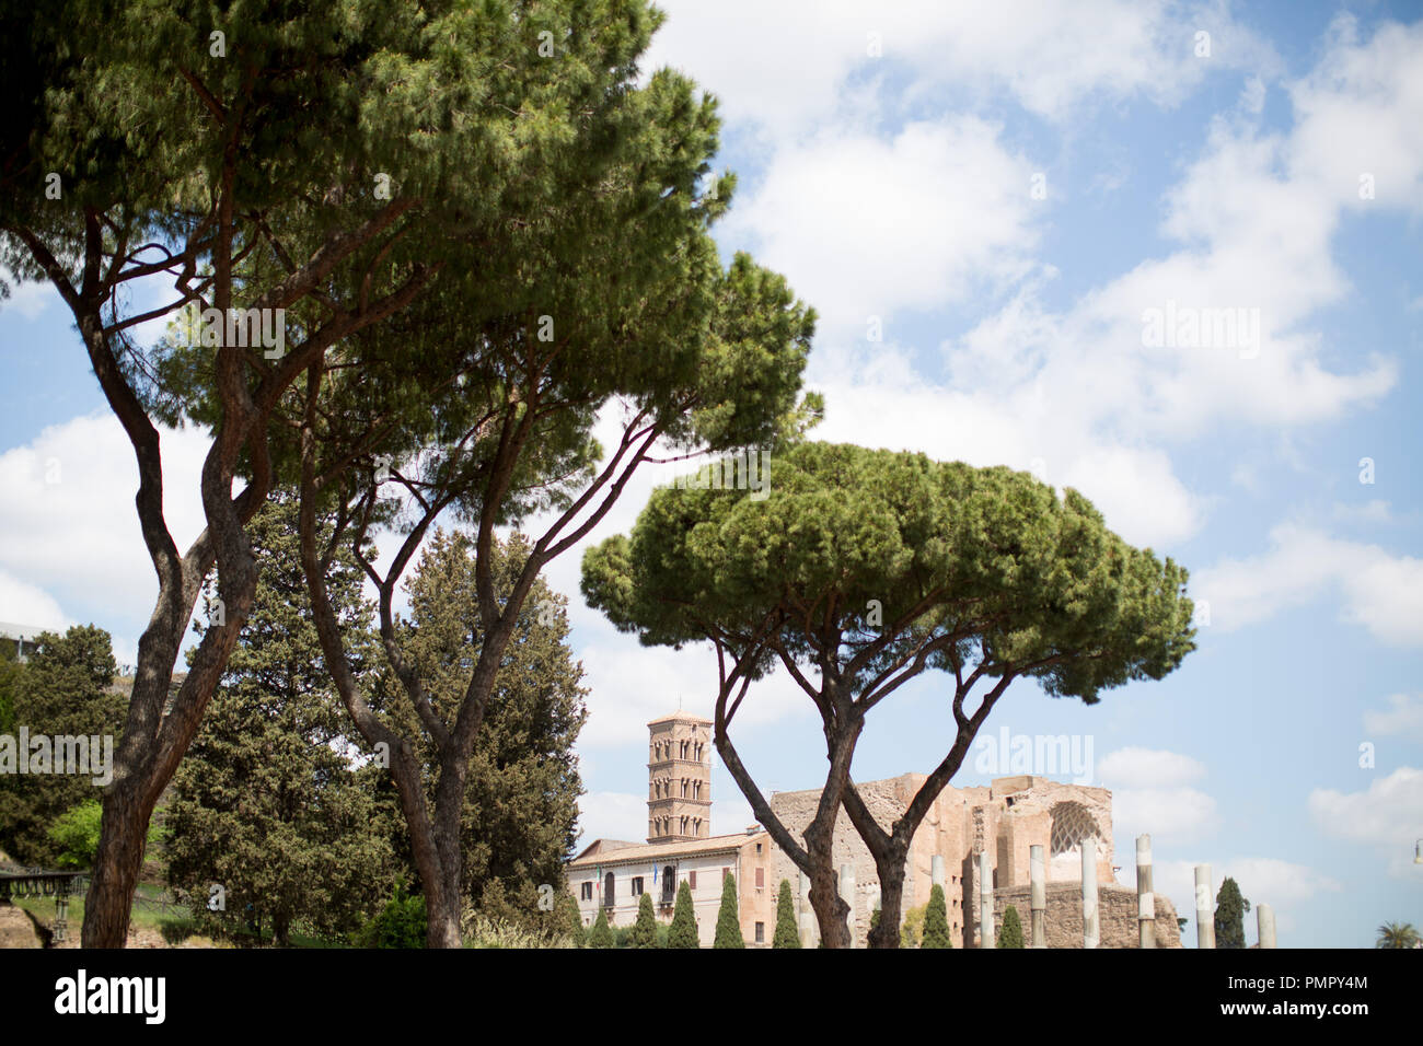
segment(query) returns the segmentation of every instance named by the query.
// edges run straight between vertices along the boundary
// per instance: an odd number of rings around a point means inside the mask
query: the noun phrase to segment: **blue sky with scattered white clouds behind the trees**
[[[663,7],[652,64],[721,101],[719,165],[740,181],[723,250],[821,313],[818,438],[1077,487],[1210,603],[1167,680],[1094,707],[1020,683],[989,731],[1090,739],[1123,881],[1150,831],[1183,915],[1208,861],[1275,907],[1286,946],[1423,925],[1423,7]],[[1167,302],[1245,310],[1259,340],[1150,347],[1144,313]],[[132,457],[43,287],[0,303],[0,620],[94,620],[132,660],[154,593]],[[179,537],[203,450],[165,440]],[[650,484],[592,539],[626,531]],[[581,603],[578,555],[549,579],[592,687],[583,824],[642,838],[643,724],[704,712],[712,660],[615,633]],[[855,776],[932,767],[946,693],[922,679],[877,709]],[[822,780],[787,680],[737,731],[764,787]],[[713,798],[714,831],[750,823],[720,768]]]

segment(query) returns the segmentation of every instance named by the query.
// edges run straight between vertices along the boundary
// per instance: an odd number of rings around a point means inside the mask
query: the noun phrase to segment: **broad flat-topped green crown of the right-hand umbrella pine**
[[[888,665],[914,660],[904,677],[952,673],[958,702],[970,692],[996,702],[1030,679],[1094,704],[1133,680],[1163,679],[1195,649],[1187,571],[1128,545],[1077,491],[1059,495],[1005,467],[814,440],[781,451],[773,472],[764,500],[726,485],[655,490],[630,534],[585,552],[588,603],[647,646],[710,640],[723,655],[754,648],[767,662],[854,666],[834,682],[804,672],[797,683],[820,707],[844,700],[864,713],[902,682],[887,683]],[[748,666],[748,679],[764,673]],[[830,750],[852,760],[864,722],[828,723]],[[961,746],[924,787],[943,787],[962,756]],[[834,828],[844,784],[827,777],[824,787],[834,801],[817,831]],[[872,852],[884,857],[885,845],[874,833],[914,837],[929,804],[908,808],[909,820],[865,827]],[[834,874],[828,864],[807,871]],[[898,929],[898,904],[884,915],[885,929]],[[835,945],[838,929],[827,934]]]

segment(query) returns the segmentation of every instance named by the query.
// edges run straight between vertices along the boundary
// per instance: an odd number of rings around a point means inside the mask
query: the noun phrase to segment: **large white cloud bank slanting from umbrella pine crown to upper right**
[[[867,346],[862,332],[822,336],[813,380],[825,393],[828,417],[817,435],[1044,471],[1054,485],[1077,485],[1130,541],[1170,545],[1192,537],[1205,522],[1207,502],[1175,474],[1167,447],[1218,438],[1222,426],[1288,430],[1338,420],[1397,383],[1397,361],[1368,354],[1373,346],[1359,346],[1362,361],[1353,370],[1329,364],[1328,357],[1350,346],[1326,343],[1309,327],[1321,307],[1352,293],[1331,245],[1358,202],[1356,194],[1339,192],[1325,151],[1312,142],[1328,141],[1329,128],[1348,114],[1379,108],[1386,115],[1370,124],[1380,135],[1375,151],[1390,158],[1390,178],[1412,186],[1423,168],[1423,95],[1413,68],[1423,68],[1423,28],[1390,27],[1368,43],[1336,36],[1319,70],[1291,93],[1296,110],[1289,132],[1262,134],[1249,107],[1211,127],[1200,158],[1164,201],[1170,253],[1060,310],[1046,306],[1056,273],[1039,266],[1006,305],[942,346],[942,381],[892,342]],[[1397,194],[1373,204],[1385,211],[1412,206]],[[760,216],[774,221],[768,212]],[[1005,235],[1002,250],[966,272],[966,283],[992,282],[995,273],[1002,282],[1020,270],[1015,266],[1027,258],[1035,229],[1030,221],[1016,228],[1022,239]],[[784,229],[774,233],[778,252],[794,268],[783,268],[813,303],[805,287],[824,283],[834,289],[832,309],[874,312],[862,307],[867,295],[848,279],[818,276],[827,266],[825,233],[797,245],[791,226]],[[898,300],[912,300],[912,280],[899,283],[905,290]],[[1258,320],[1258,339],[1147,347],[1146,310],[1168,303],[1245,310],[1238,315]],[[1251,470],[1237,480],[1249,485]],[[1369,576],[1350,586],[1360,596],[1352,603],[1358,619],[1395,638],[1410,626],[1372,613],[1373,601],[1363,596],[1396,588]],[[1412,609],[1386,605],[1390,612]]]

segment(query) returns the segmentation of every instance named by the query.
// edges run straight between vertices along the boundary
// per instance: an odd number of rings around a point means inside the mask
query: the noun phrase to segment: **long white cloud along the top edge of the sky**
[[[857,78],[892,75],[908,100],[936,88],[1007,93],[1064,120],[1091,100],[1144,97],[1171,105],[1212,71],[1275,68],[1272,53],[1224,3],[1009,0],[667,0],[667,24],[646,65],[684,68],[730,118],[784,137],[831,118]],[[1195,33],[1211,57],[1195,57]],[[874,37],[871,37],[874,34]],[[882,57],[872,57],[878,41]]]

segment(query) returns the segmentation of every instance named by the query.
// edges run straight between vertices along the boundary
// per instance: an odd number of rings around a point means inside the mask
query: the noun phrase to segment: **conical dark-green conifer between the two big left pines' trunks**
[[[178,774],[168,807],[168,881],[226,926],[357,929],[388,895],[396,864],[384,771],[347,759],[349,720],[307,612],[296,500],[279,494],[249,524],[260,581],[238,648]],[[370,650],[363,578],[337,551],[327,585],[356,649]],[[209,598],[208,618],[219,613]],[[199,623],[201,633],[208,625]],[[209,902],[212,884],[223,907]]]

